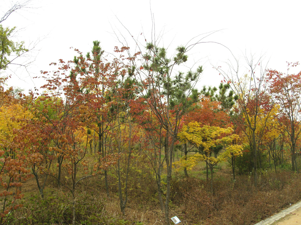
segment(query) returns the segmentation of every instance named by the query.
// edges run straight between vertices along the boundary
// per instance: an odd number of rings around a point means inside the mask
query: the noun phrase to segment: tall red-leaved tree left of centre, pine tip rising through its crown
[[[110,106],[107,103],[110,102],[109,93],[118,79],[119,63],[117,59],[108,61],[104,57],[100,41],[93,41],[92,51],[86,56],[77,49],[75,51],[77,56],[74,56],[73,62],[76,66],[70,77],[77,82],[79,92],[85,98],[85,105],[93,111],[96,126],[90,124],[90,129],[98,134],[98,152],[101,153],[101,158],[105,158],[104,143],[111,119]],[[104,178],[107,196],[110,197],[106,170]]]

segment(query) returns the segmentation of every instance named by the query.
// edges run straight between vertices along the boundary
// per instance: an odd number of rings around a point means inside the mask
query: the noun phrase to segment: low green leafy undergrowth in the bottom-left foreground
[[[80,224],[105,222],[104,204],[99,196],[79,194],[76,201],[76,221]],[[72,223],[71,196],[57,191],[47,194],[45,199],[31,195],[23,201],[23,208],[16,211],[9,224],[57,224]]]

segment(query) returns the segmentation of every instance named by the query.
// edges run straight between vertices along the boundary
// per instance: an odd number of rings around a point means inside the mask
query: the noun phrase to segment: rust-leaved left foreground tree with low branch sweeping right
[[[54,63],[53,65],[56,64]],[[37,169],[40,172],[50,175],[57,180],[58,187],[64,186],[70,190],[72,193],[73,224],[75,224],[76,185],[79,181],[92,177],[106,169],[118,156],[111,154],[107,155],[106,159],[102,158],[98,163],[94,164],[94,172],[88,175],[88,163],[85,160],[85,156],[87,154],[89,129],[85,130],[85,127],[94,123],[95,118],[91,110],[82,105],[84,95],[79,91],[76,79],[68,74],[70,69],[69,64],[60,60],[57,71],[53,73],[42,71],[42,74],[48,81],[42,87],[46,91],[39,98],[35,97],[33,93],[29,96],[24,95],[24,101],[38,118],[35,120],[34,126],[39,128],[39,133],[48,139],[48,147],[45,146],[45,141],[36,141],[36,139],[40,138],[33,138],[32,140],[33,146],[29,147],[28,153],[31,153],[29,162],[32,165],[33,174],[37,173],[35,169],[38,166]],[[23,132],[23,136],[26,135],[28,136],[28,132]],[[86,138],[84,138],[85,135]],[[38,142],[39,147],[46,147],[45,155],[41,155],[41,151],[35,142]],[[51,156],[49,157],[49,155]],[[39,161],[46,160],[48,157],[50,162],[48,162],[48,168],[45,168]],[[53,159],[57,160],[57,173],[50,169]],[[66,168],[68,172],[68,176],[65,176],[65,178],[67,180],[70,179],[70,187],[67,183],[64,184],[61,181],[62,167]],[[79,169],[82,169],[83,172]],[[81,177],[79,178],[78,176]],[[36,181],[39,187],[37,178]],[[42,194],[41,189],[39,187]]]

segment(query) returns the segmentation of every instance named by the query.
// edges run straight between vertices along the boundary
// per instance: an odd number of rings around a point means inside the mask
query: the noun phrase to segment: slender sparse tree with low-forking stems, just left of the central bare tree
[[[119,50],[116,49],[116,52]],[[123,155],[113,167],[118,177],[118,195],[123,214],[128,200],[129,172],[137,162],[135,156],[138,157],[138,152],[141,150],[139,143],[142,138],[139,126],[135,126],[132,117],[132,107],[135,107],[135,83],[124,73],[125,70],[122,70],[121,78],[116,81],[115,88],[111,90],[109,102],[113,114],[113,120],[109,121],[109,148],[112,152],[116,151],[117,154]]]

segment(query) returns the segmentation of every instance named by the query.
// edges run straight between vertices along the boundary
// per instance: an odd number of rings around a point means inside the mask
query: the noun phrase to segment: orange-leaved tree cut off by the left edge
[[[16,135],[22,124],[22,118],[32,118],[30,112],[12,97],[12,89],[0,90],[0,182],[2,201],[0,224],[5,224],[9,212],[22,206],[17,199],[23,197],[21,193],[22,181],[30,177],[30,169],[26,162],[25,146]]]

